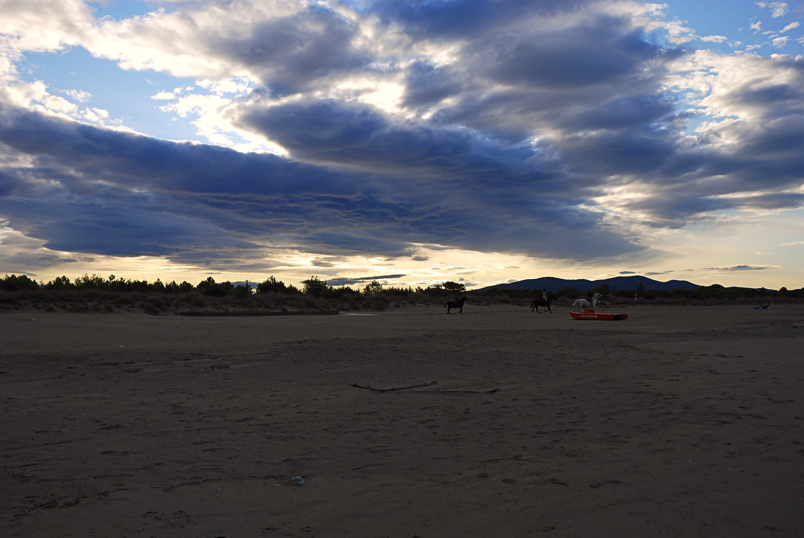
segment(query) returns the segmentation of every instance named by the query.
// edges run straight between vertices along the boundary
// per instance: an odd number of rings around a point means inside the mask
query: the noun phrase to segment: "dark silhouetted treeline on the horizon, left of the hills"
[[[235,295],[239,297],[248,297],[253,294],[281,294],[281,295],[313,295],[316,298],[338,298],[345,294],[349,295],[413,295],[423,294],[428,296],[447,296],[455,295],[457,293],[466,293],[466,286],[456,282],[445,282],[435,284],[426,288],[416,287],[384,287],[382,283],[377,280],[372,280],[367,283],[362,289],[353,289],[349,286],[334,287],[326,283],[326,280],[319,279],[318,276],[311,276],[301,282],[301,287],[293,286],[293,284],[285,284],[276,277],[269,276],[264,282],[257,283],[252,286],[248,280],[244,284],[233,284],[228,280],[226,282],[215,282],[211,276],[206,280],[202,280],[197,285],[184,281],[177,283],[175,280],[172,282],[164,283],[161,279],[156,279],[154,282],[147,280],[132,280],[121,279],[115,275],[109,275],[109,278],[104,279],[99,275],[84,275],[74,280],[70,280],[67,276],[59,276],[52,279],[50,282],[36,282],[34,279],[29,278],[27,275],[6,275],[0,278],[0,290],[3,291],[68,291],[68,290],[103,290],[103,291],[136,291],[140,293],[165,293],[165,294],[179,294],[191,293],[196,291],[202,295],[210,297],[226,297],[228,295]]]

